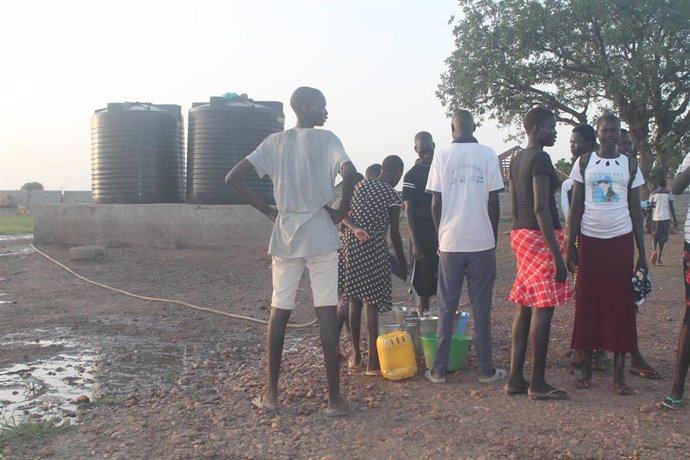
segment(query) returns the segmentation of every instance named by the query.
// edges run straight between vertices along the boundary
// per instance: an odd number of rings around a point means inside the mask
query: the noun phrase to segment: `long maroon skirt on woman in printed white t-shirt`
[[[637,351],[633,243],[632,233],[610,239],[580,235],[573,349]]]

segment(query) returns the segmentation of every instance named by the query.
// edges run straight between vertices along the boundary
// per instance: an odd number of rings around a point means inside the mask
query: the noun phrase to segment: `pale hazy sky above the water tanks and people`
[[[391,154],[409,169],[415,133],[450,140],[435,92],[454,14],[455,0],[2,2],[0,190],[90,190],[90,118],[109,102],[180,105],[186,138],[192,103],[225,92],[282,101],[289,128],[304,85],[358,169]],[[569,156],[559,134],[554,163]],[[515,145],[492,121],[476,135]]]

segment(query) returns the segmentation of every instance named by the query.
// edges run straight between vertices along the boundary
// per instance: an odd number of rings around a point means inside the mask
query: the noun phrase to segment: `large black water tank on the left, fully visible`
[[[184,124],[179,105],[111,103],[91,117],[96,204],[182,203]]]

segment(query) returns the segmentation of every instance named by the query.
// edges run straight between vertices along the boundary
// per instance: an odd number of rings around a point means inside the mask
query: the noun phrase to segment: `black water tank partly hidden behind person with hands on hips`
[[[225,174],[270,134],[285,126],[283,104],[246,97],[212,97],[189,110],[187,142],[187,201],[205,204],[242,204],[225,185]],[[251,171],[247,185],[273,204],[273,184]]]

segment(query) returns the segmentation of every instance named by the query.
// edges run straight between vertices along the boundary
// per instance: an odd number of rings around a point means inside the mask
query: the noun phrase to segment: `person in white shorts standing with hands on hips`
[[[321,91],[301,87],[290,98],[297,126],[272,134],[247,158],[240,161],[225,181],[248,204],[274,222],[268,252],[273,258],[273,295],[266,334],[268,387],[252,404],[264,412],[278,405],[280,361],[290,314],[304,269],[309,270],[319,335],[326,365],[328,408],[326,415],[348,413],[348,401],[340,393],[338,356],[338,247],[335,223],[350,207],[357,171],[338,137],[323,126],[328,117]],[[245,184],[246,175],[273,181],[274,209]],[[343,197],[338,209],[327,206],[335,200],[335,177],[343,177]]]

